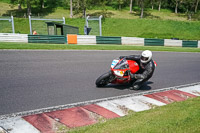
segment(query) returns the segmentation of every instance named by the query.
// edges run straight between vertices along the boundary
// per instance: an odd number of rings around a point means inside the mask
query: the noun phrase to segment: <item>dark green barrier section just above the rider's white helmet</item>
[[[164,46],[164,39],[144,39],[145,46]]]

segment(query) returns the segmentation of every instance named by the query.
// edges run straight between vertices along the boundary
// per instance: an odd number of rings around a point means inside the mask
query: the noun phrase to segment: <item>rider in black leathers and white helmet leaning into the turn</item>
[[[130,55],[130,56],[120,56],[120,59],[126,58],[127,60],[134,60],[139,64],[139,71],[136,74],[130,72],[130,76],[133,82],[130,89],[138,90],[142,84],[148,81],[154,72],[155,64],[152,60],[152,52],[145,50],[141,55]]]

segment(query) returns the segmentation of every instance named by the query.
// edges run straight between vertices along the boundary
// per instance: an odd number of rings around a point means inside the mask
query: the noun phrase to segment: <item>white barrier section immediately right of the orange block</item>
[[[77,44],[89,44],[95,45],[96,44],[96,36],[89,36],[89,35],[78,35],[77,36]]]

